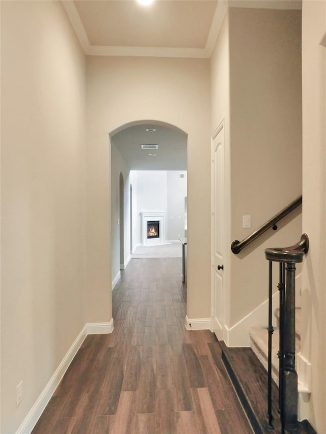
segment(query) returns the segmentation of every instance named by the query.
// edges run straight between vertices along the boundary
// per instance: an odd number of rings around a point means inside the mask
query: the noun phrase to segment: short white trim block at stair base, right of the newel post
[[[311,414],[310,411],[310,395],[311,395],[311,385],[312,385],[312,370],[311,363],[301,354],[297,353],[296,359],[296,370],[297,370],[297,413],[298,420],[309,420]]]

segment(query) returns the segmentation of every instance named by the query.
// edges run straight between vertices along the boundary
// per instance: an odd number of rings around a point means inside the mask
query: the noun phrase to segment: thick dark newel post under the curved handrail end
[[[295,371],[295,263],[286,264],[284,315],[284,425],[297,424],[297,373]]]

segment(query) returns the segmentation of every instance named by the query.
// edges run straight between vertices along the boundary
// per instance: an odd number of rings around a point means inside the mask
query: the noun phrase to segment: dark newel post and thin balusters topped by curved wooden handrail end
[[[297,373],[295,370],[295,264],[303,262],[304,254],[309,250],[309,238],[303,234],[300,241],[290,247],[265,249],[268,261],[268,382],[267,382],[267,418],[269,428],[273,428],[271,413],[271,340],[274,327],[271,320],[273,310],[273,262],[280,266],[278,290],[279,304],[279,414],[281,433],[297,428]]]

